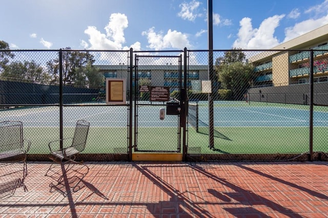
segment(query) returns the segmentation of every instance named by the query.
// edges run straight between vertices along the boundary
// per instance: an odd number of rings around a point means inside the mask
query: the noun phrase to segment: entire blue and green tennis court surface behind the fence
[[[193,103],[193,102],[192,102]],[[126,153],[128,151],[129,109],[105,103],[63,109],[64,137],[71,137],[78,119],[91,123],[85,153]],[[137,140],[140,150],[176,150],[180,140],[179,117],[159,119],[162,105],[138,106]],[[132,108],[134,113],[134,108]],[[190,109],[189,109],[190,110]],[[218,101],[214,104],[214,149],[209,149],[207,102],[198,102],[198,132],[192,117],[187,124],[189,152],[199,154],[304,153],[309,151],[309,106],[274,103]],[[59,138],[59,108],[22,107],[2,110],[3,120],[21,120],[24,135],[32,140],[30,153],[47,154],[48,142]],[[314,111],[314,151],[327,152],[325,137],[328,112]],[[133,129],[135,117],[132,120]],[[135,136],[133,136],[135,140]],[[134,142],[134,143],[135,143]],[[142,142],[142,143],[141,143]],[[139,147],[140,148],[140,147]]]

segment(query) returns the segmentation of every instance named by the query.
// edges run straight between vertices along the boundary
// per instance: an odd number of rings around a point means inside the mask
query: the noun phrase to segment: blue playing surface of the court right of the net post
[[[208,124],[208,107],[199,106],[199,120]],[[328,113],[314,111],[314,126],[328,125]],[[283,107],[215,107],[215,127],[308,127],[310,112]]]

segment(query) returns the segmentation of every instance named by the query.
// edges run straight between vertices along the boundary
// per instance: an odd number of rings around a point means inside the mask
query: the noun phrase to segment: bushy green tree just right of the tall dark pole
[[[218,81],[223,89],[230,89],[235,100],[242,100],[253,79],[254,67],[245,62],[245,54],[238,49],[216,59]]]

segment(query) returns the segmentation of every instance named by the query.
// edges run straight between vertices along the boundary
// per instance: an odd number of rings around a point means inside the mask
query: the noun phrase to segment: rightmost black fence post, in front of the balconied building
[[[310,132],[309,132],[309,149],[310,157],[313,160],[313,50],[310,51]]]

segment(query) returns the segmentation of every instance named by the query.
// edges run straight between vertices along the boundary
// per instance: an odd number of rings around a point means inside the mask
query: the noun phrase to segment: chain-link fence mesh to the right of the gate
[[[189,86],[190,158],[306,159],[311,142],[309,54],[310,51],[214,51],[215,70],[199,78],[211,84],[194,82]],[[317,54],[313,61],[314,103],[323,105],[328,96],[326,57],[322,51]],[[207,66],[209,57],[209,51],[189,51],[188,65]],[[211,93],[204,93],[202,85],[212,88]],[[197,105],[197,115],[193,105]],[[326,153],[326,138],[322,135],[327,127],[324,111],[322,106],[314,110],[314,150],[322,153]]]

